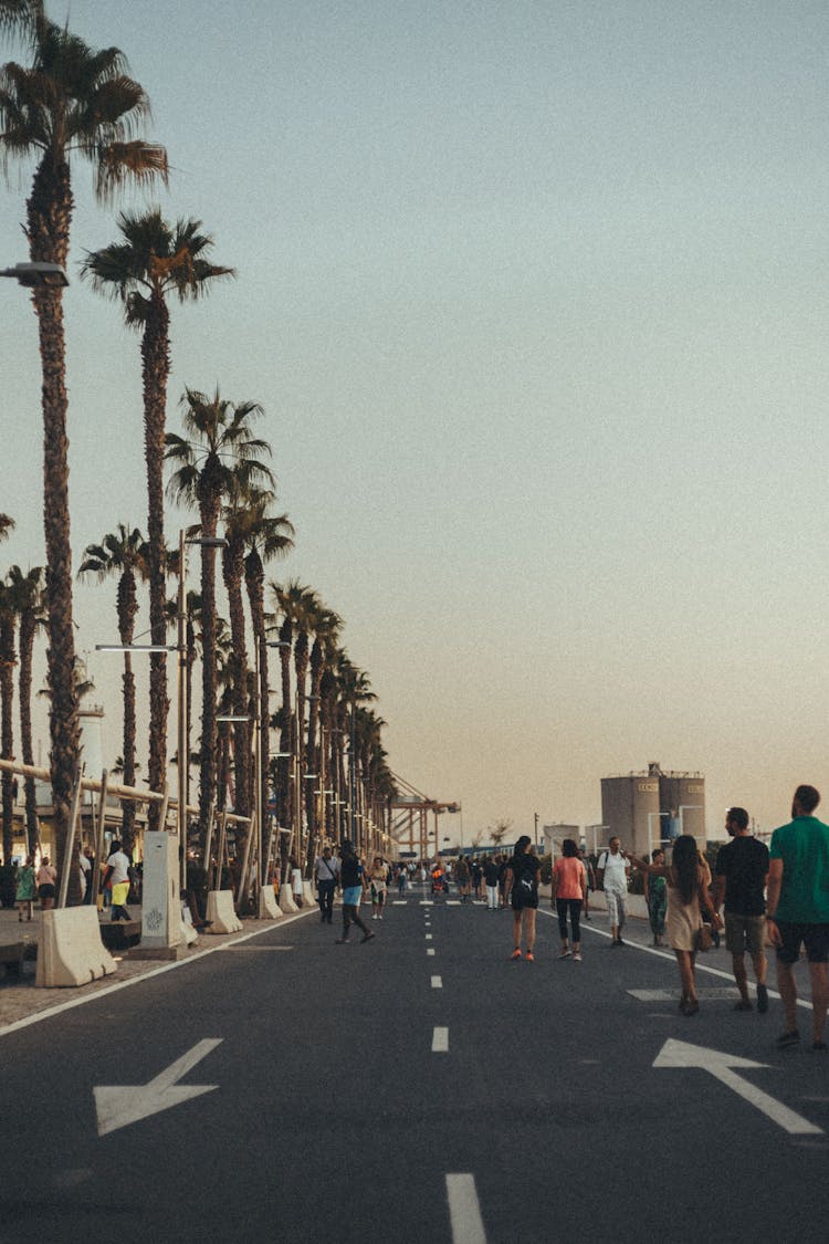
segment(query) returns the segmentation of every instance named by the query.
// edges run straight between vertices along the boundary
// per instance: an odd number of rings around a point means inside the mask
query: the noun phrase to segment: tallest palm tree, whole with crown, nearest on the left
[[[6,5],[6,17],[11,9]],[[31,12],[32,10],[30,10]],[[32,63],[0,70],[0,159],[35,157],[26,236],[35,262],[66,269],[72,219],[70,160],[91,160],[94,190],[107,199],[128,182],[167,180],[167,152],[134,139],[149,103],[117,47],[93,51],[45,16],[34,22]],[[40,335],[44,413],[44,526],[48,598],[50,769],[57,858],[62,865],[70,796],[80,755],[78,700],[72,678],[72,556],[70,540],[67,393],[62,289],[32,290]],[[70,887],[71,893],[80,887]]]

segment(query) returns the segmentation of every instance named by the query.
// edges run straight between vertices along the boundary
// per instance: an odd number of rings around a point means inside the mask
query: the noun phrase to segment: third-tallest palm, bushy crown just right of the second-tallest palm
[[[186,389],[180,403],[186,438],[168,433],[167,454],[178,466],[168,484],[176,503],[198,509],[203,540],[215,540],[222,500],[244,489],[270,486],[272,475],[260,462],[271,448],[254,437],[252,419],[262,414],[255,402],[235,404],[216,389],[210,398]],[[189,439],[188,439],[189,438]],[[201,765],[199,822],[204,841],[216,794],[216,571],[214,550],[201,550]]]

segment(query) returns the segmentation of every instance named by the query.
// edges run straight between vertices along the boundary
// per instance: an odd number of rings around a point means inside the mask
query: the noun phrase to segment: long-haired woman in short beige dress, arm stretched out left
[[[630,862],[651,877],[665,877],[667,882],[667,940],[676,955],[680,969],[682,996],[680,1010],[684,1015],[696,1015],[700,999],[696,993],[697,938],[702,928],[702,914],[710,914],[713,927],[721,921],[708,898],[711,870],[696,848],[696,838],[682,833],[674,842],[670,865],[648,863],[630,856]]]

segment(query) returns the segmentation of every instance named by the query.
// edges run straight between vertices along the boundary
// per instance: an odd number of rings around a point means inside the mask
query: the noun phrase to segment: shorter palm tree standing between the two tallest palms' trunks
[[[106,535],[99,545],[87,545],[78,578],[94,577],[99,583],[106,578],[118,580],[117,610],[118,638],[124,646],[133,642],[138,615],[137,581],[145,581],[149,571],[149,550],[138,527],[119,522],[116,531]],[[135,785],[135,675],[132,653],[124,652],[124,731],[123,779],[126,786]],[[122,800],[122,835],[127,853],[135,841],[135,802]]]

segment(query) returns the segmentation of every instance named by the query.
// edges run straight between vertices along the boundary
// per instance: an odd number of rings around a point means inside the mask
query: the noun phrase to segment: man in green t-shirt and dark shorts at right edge
[[[778,1049],[797,1045],[797,985],[794,964],[805,947],[812,978],[813,1050],[825,1050],[823,1039],[829,1000],[829,825],[812,814],[820,802],[814,786],[798,786],[792,821],[772,833],[766,919],[777,947],[777,988],[783,999],[785,1031]]]

